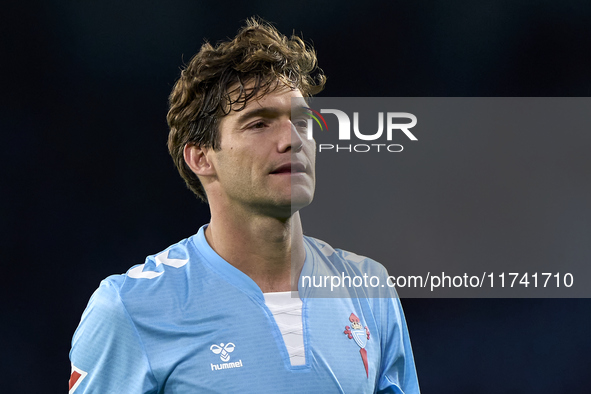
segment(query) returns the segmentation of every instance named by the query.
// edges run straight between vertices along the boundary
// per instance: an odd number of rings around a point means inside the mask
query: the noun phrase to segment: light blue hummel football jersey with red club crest
[[[260,288],[204,229],[101,282],[72,340],[70,393],[419,393],[398,298],[303,298],[306,363],[292,366]],[[387,277],[304,240],[302,276]]]

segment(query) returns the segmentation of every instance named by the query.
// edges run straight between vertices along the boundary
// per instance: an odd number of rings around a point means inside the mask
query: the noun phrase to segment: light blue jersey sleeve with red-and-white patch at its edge
[[[70,394],[156,393],[158,385],[116,286],[104,280],[72,339]]]

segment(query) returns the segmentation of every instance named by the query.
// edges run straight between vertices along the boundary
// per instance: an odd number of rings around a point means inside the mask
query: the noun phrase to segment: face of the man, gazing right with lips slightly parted
[[[208,153],[210,201],[284,218],[312,201],[316,143],[306,138],[305,115],[292,116],[293,98],[305,106],[299,90],[279,85],[221,119],[221,149]]]

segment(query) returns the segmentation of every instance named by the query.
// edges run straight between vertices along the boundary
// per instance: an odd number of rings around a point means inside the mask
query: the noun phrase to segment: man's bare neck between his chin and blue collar
[[[297,291],[306,252],[298,212],[288,219],[224,214],[212,207],[207,242],[263,291]]]

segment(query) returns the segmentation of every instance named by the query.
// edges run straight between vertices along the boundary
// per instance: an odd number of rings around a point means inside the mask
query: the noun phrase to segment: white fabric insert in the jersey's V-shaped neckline
[[[263,293],[265,304],[273,313],[289,353],[291,365],[306,364],[302,326],[302,300],[292,298],[291,291]]]

